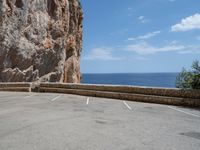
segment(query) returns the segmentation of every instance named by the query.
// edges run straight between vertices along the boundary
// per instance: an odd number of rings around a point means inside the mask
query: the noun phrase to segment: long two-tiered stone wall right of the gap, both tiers
[[[41,83],[40,92],[57,92],[84,96],[179,106],[200,106],[200,90],[135,86]]]

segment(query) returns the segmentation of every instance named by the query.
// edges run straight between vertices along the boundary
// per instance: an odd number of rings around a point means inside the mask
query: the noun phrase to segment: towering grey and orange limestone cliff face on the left
[[[0,0],[0,82],[80,82],[79,0]]]

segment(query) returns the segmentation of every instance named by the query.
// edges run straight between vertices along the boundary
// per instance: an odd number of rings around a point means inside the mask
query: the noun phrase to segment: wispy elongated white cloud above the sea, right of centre
[[[146,55],[146,54],[155,54],[158,52],[169,52],[169,51],[183,51],[186,49],[184,45],[175,45],[175,44],[169,44],[163,47],[155,47],[147,44],[146,42],[141,42],[138,44],[132,44],[128,45],[125,48],[127,51],[136,52],[140,55]]]

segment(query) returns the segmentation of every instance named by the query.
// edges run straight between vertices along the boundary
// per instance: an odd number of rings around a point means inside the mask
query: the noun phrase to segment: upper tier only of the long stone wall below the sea
[[[200,99],[200,90],[184,90],[177,88],[154,88],[142,86],[119,86],[119,85],[94,85],[94,84],[55,84],[41,83],[40,87],[46,88],[65,88],[65,89],[82,89],[93,91],[107,91],[119,93],[134,93],[145,95],[156,95],[178,98]]]

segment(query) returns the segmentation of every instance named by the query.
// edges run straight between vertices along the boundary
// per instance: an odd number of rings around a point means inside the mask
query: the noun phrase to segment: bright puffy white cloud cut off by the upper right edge
[[[194,29],[200,29],[200,14],[198,13],[182,19],[180,23],[175,24],[171,27],[172,32],[183,32]]]

